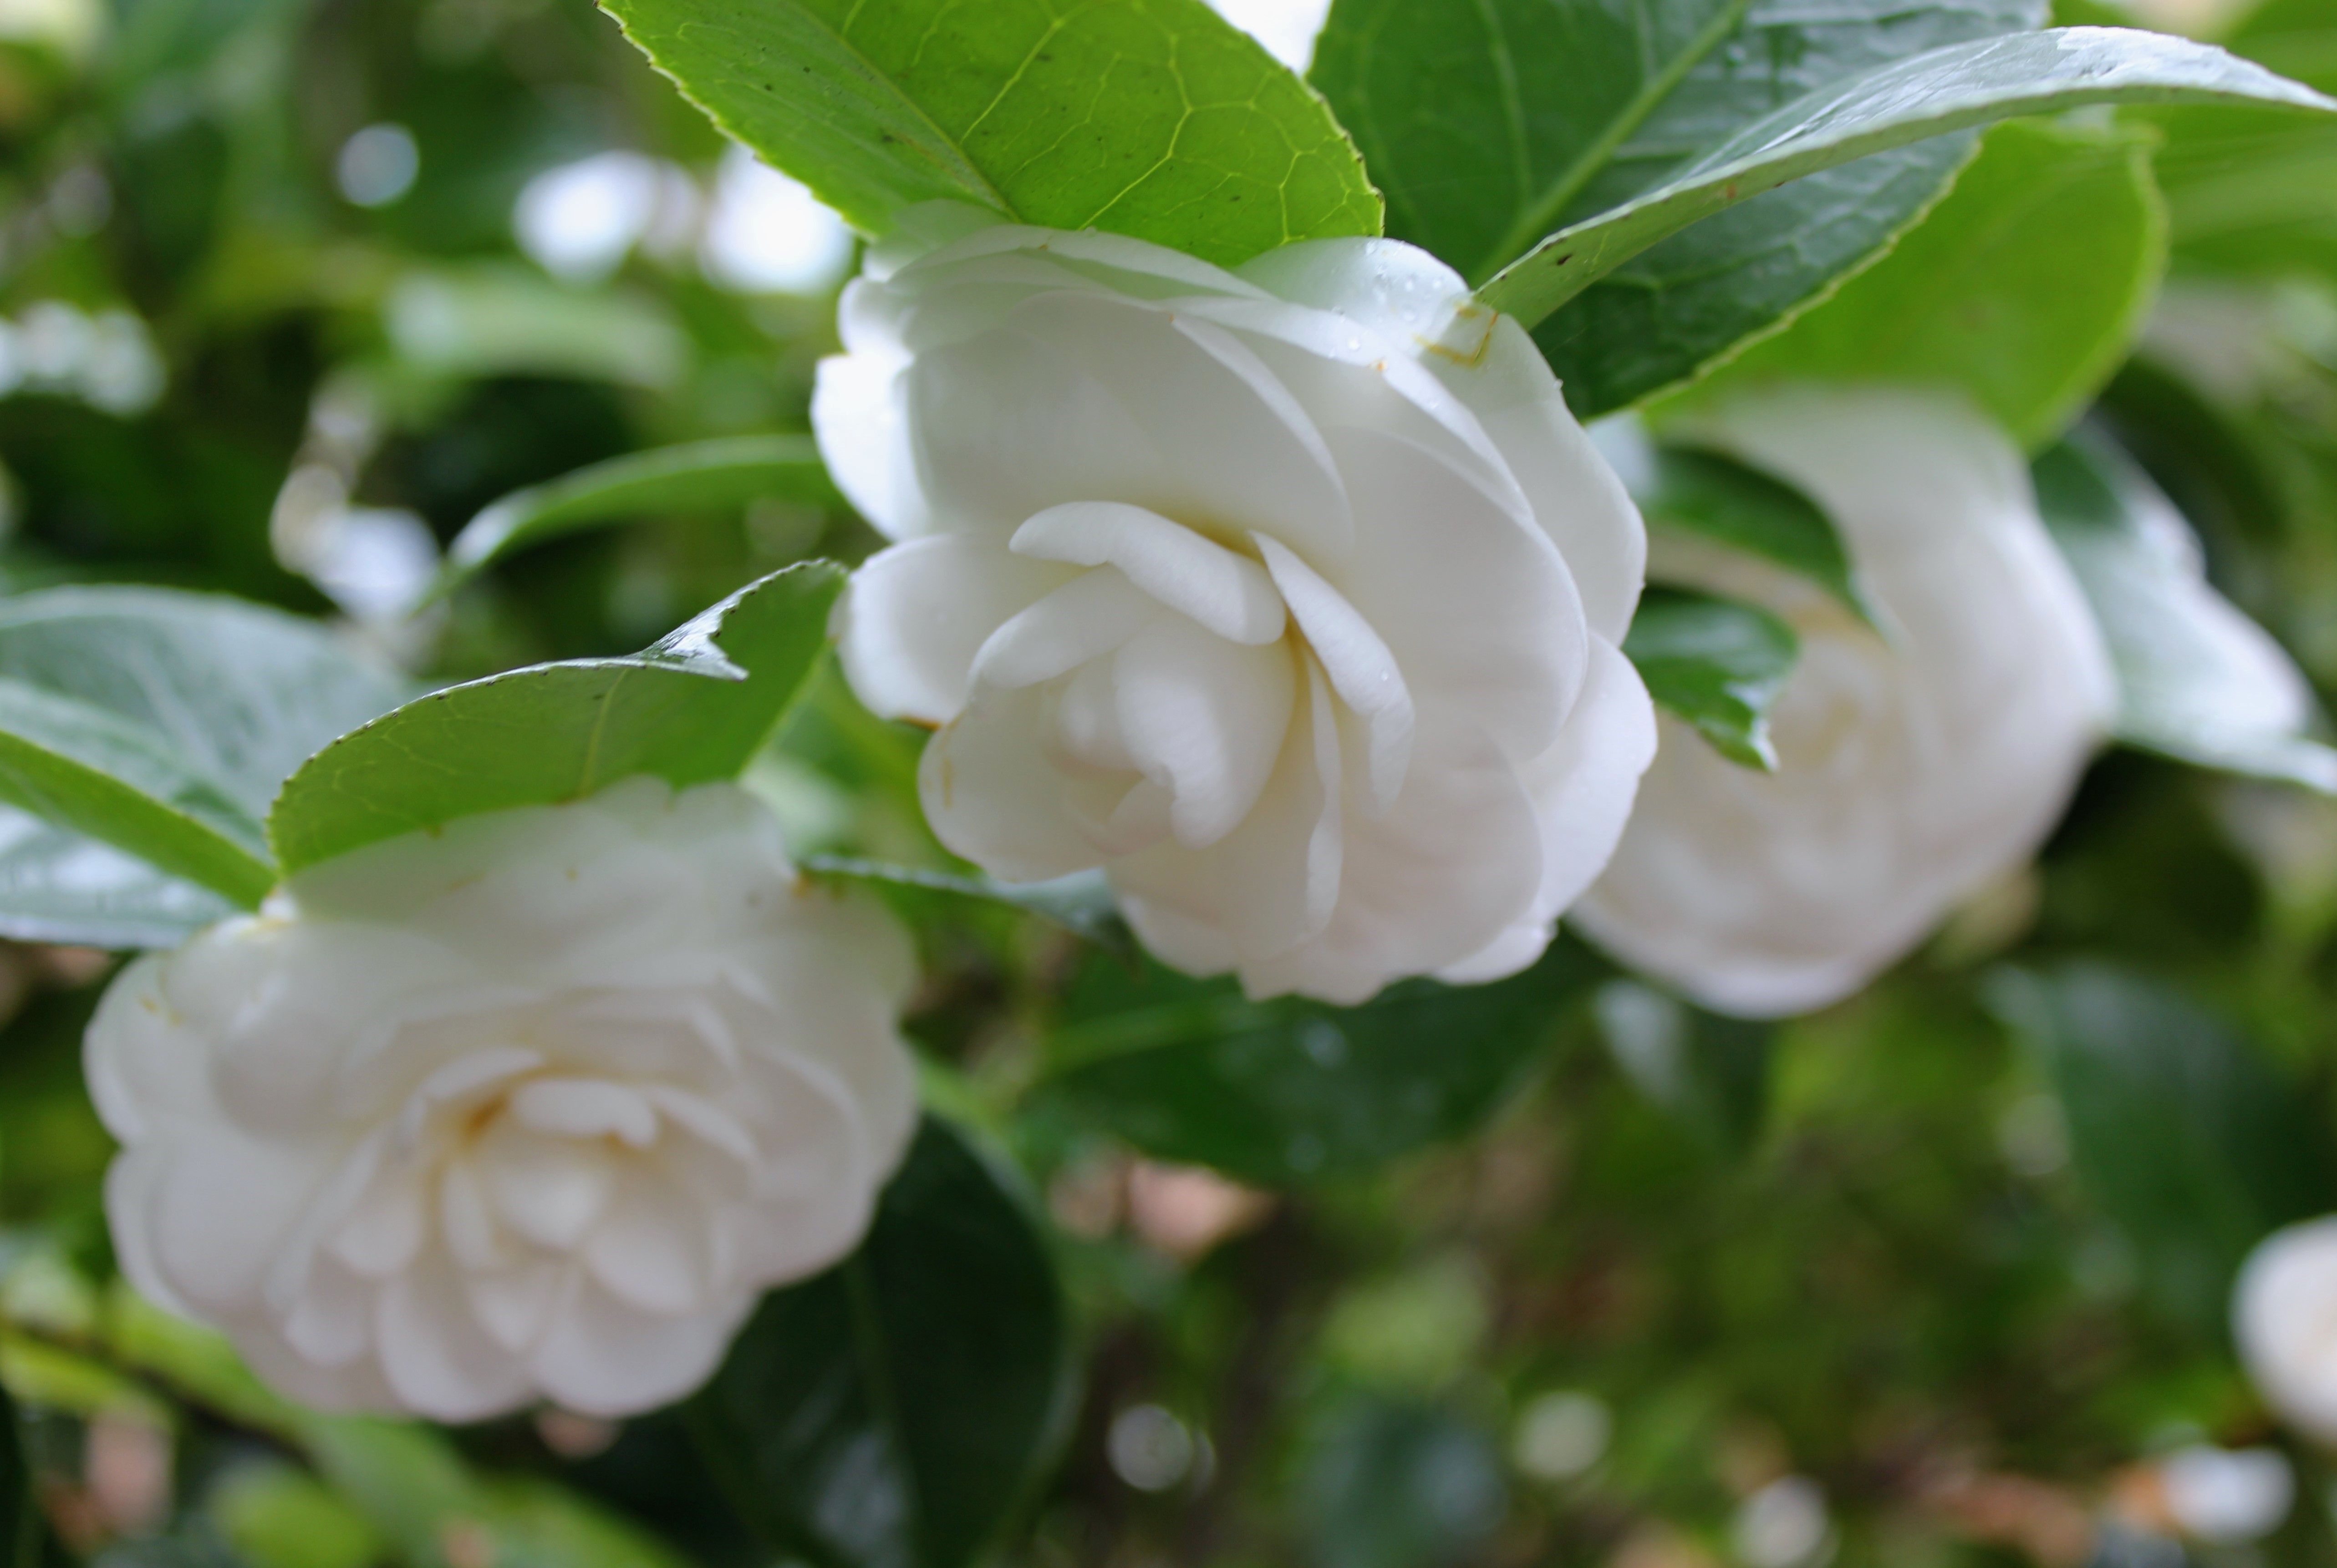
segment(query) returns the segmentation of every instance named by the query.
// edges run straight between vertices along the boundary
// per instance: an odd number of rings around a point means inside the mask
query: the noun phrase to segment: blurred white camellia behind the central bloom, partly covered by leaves
[[[1823,505],[1881,633],[1807,577],[1662,537],[1655,577],[1774,610],[1802,657],[1771,710],[1778,769],[1666,720],[1575,921],[1718,1012],[1835,1002],[2061,818],[2117,687],[2038,519],[2022,453],[1949,395],[1776,388],[1692,435]]]

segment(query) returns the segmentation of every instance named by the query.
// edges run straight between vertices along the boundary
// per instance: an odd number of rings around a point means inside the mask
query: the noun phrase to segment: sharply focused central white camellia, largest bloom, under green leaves
[[[1171,965],[1355,1002],[1528,965],[1655,748],[1645,535],[1524,329],[1393,241],[1236,271],[972,227],[876,255],[820,367],[893,540],[837,636],[1007,881],[1105,867]]]

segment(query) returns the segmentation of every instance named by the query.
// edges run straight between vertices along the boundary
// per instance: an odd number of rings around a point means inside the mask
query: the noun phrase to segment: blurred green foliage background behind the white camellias
[[[2337,175],[2300,143],[2311,182],[2241,215],[2288,222],[2283,245],[2234,255],[2239,227],[2201,213],[2237,201],[2211,175],[2253,152],[2197,115],[2159,124],[2176,273],[2096,421],[2328,692]],[[2054,136],[2150,241],[2141,143]],[[645,159],[626,168],[664,208],[594,266],[547,269],[514,206],[612,150]],[[334,573],[337,530],[437,549],[591,463],[806,430],[837,278],[710,280],[699,229],[724,178],[715,133],[573,0],[0,5],[0,582],[234,591],[437,682],[629,652],[790,561],[862,556],[874,535],[820,493],[741,507],[717,486],[624,528],[547,528],[414,622]],[[1877,269],[1865,292],[1888,285]],[[748,780],[802,853],[963,874],[923,830],[918,745],[823,668]],[[961,890],[900,895],[928,963],[928,1098],[1049,1213],[1080,1379],[1042,1496],[951,1496],[951,1549],[1007,1514],[1003,1561],[1028,1568],[1706,1568],[1750,1561],[1753,1503],[1809,1477],[1844,1566],[2164,1568],[2185,1547],[2150,1535],[2148,1463],[2208,1439],[2288,1446],[2300,1505],[2262,1547],[2190,1547],[2199,1563],[2337,1563],[2332,1472],[2276,1432],[2220,1313],[2265,1227],[2337,1208],[2330,802],[2108,755],[2033,874],[1872,993],[1778,1028],[1699,1017],[1573,944],[1507,986],[1330,1021]],[[451,1435],[308,1416],[131,1299],[77,1061],[105,972],[0,949],[16,1568],[774,1561],[734,1503],[795,1510],[788,1453],[717,1484],[692,1432],[736,1409]],[[1211,1054],[1164,1052],[1197,1017]],[[1316,1082],[1325,1054],[1398,1047],[1433,1070],[1348,1073],[1353,1098]],[[1323,1119],[1318,1147],[1274,1138],[1288,1105]],[[841,1283],[806,1290],[825,1295],[767,1311],[844,1313]],[[946,1320],[939,1288],[921,1306]],[[802,1346],[757,1334],[748,1353],[788,1372]],[[1040,1376],[998,1372],[1012,1397]],[[1014,1409],[1017,1442],[1040,1442],[1054,1411]]]

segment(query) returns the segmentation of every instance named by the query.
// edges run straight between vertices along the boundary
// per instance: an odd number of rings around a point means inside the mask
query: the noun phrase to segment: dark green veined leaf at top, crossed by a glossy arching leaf
[[[1816,89],[2040,21],[2036,0],[1339,0],[1313,75],[1388,192],[1388,231],[1482,283]],[[1818,297],[1968,152],[1968,138],[1919,143],[1748,189],[1741,210],[1627,264],[1535,332],[1568,404],[1620,409]]]

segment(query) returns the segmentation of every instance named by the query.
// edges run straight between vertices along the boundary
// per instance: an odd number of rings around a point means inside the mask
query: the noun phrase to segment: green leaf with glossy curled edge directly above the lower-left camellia
[[[290,874],[629,773],[736,778],[818,668],[841,587],[837,566],[790,566],[629,659],[538,664],[411,701],[285,783],[269,816],[276,855]]]

